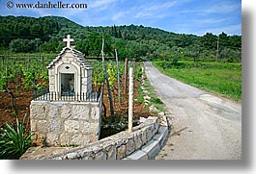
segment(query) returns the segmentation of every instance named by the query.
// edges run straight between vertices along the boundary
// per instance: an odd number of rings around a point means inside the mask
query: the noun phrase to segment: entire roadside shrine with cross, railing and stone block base
[[[35,91],[30,106],[33,141],[48,145],[85,145],[100,138],[101,92],[92,91],[93,67],[67,46],[49,63],[49,88]]]

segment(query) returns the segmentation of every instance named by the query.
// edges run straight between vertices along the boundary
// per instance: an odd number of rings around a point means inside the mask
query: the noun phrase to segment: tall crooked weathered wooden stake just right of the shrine
[[[109,99],[109,104],[110,104],[110,115],[114,116],[114,107],[113,107],[113,98],[112,98],[112,93],[111,93],[111,88],[109,85],[108,81],[108,75],[106,73],[106,67],[105,67],[105,59],[104,59],[104,36],[102,34],[102,49],[101,49],[101,54],[102,54],[102,66],[104,70],[104,76],[105,76],[105,81],[107,85],[107,91],[108,91],[108,99]]]

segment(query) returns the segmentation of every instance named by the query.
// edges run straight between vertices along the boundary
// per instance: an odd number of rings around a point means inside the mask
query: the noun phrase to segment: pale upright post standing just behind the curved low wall
[[[132,132],[132,117],[133,117],[133,67],[129,67],[128,73],[128,132]]]

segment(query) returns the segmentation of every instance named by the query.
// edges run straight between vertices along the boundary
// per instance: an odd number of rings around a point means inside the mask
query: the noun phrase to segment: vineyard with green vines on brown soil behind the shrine
[[[29,115],[30,102],[33,99],[33,91],[48,87],[47,65],[54,55],[8,55],[0,56],[0,127],[6,122],[13,124],[15,119],[22,120],[25,114]],[[93,91],[103,86],[103,119],[102,135],[107,137],[127,128],[128,117],[128,86],[125,77],[125,62],[105,62],[108,81],[113,96],[115,114],[110,116],[110,103],[107,86],[105,86],[104,72],[101,61],[89,61],[93,69]],[[131,65],[130,63],[128,66]],[[135,62],[134,67],[134,93],[139,97],[136,90],[141,81],[141,63]],[[119,71],[118,71],[119,70]],[[118,83],[120,75],[120,83]],[[118,87],[120,85],[120,87]],[[120,89],[119,89],[120,88]],[[128,91],[128,89],[127,89]],[[138,101],[134,103],[134,116],[149,116],[152,113]],[[27,116],[29,117],[29,116]],[[120,124],[122,122],[122,124]],[[117,126],[113,129],[113,125]],[[134,124],[136,124],[136,119]],[[115,127],[115,126],[114,126]]]

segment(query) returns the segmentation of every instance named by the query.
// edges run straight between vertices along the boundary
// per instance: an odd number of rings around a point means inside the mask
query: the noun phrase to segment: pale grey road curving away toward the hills
[[[242,105],[161,74],[145,62],[171,131],[156,160],[240,160]]]

